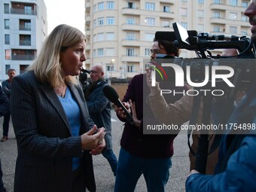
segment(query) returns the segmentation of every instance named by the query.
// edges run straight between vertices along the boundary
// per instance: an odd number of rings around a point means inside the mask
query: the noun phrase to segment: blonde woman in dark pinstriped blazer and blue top
[[[96,191],[91,155],[105,147],[105,129],[90,120],[76,78],[85,45],[78,29],[56,26],[28,72],[12,81],[14,192]]]

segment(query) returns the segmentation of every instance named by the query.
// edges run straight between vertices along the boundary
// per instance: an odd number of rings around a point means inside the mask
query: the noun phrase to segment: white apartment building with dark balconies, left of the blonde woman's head
[[[37,56],[47,35],[47,11],[43,0],[1,0],[0,80],[8,69],[23,73]]]

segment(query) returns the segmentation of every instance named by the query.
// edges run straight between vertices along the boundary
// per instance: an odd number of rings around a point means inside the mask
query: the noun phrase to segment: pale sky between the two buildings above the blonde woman
[[[59,24],[74,26],[84,32],[84,0],[44,0],[44,3],[48,34]]]

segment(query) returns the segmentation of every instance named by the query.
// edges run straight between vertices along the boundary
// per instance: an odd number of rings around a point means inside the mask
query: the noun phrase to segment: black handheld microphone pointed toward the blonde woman
[[[132,115],[127,111],[127,109],[125,108],[123,103],[120,101],[116,90],[114,90],[113,87],[110,87],[109,85],[106,85],[105,87],[103,87],[103,93],[108,98],[109,101],[113,102],[114,105],[117,106],[117,108],[122,108],[123,111],[125,111],[124,114],[126,115],[126,120],[129,123],[131,123],[132,125],[134,125],[135,123],[133,121]]]

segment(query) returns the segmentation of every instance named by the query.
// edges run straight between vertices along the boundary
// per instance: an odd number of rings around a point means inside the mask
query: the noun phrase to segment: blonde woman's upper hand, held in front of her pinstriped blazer
[[[104,139],[105,136],[105,128],[99,128],[97,130],[97,126],[94,125],[91,130],[87,133],[81,135],[81,144],[83,150],[92,150],[96,148],[99,143]]]

